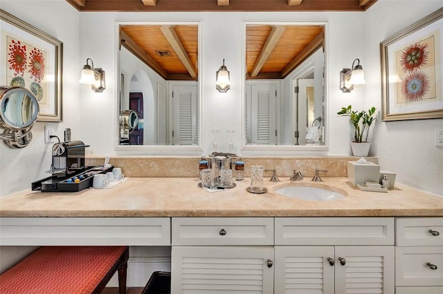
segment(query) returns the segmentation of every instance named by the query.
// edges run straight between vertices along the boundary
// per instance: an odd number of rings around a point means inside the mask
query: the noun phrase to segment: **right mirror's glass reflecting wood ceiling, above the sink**
[[[246,146],[325,145],[325,24],[246,23]]]

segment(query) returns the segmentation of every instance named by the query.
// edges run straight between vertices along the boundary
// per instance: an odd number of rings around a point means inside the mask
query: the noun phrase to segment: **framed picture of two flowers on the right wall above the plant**
[[[443,8],[380,43],[383,121],[443,117]]]

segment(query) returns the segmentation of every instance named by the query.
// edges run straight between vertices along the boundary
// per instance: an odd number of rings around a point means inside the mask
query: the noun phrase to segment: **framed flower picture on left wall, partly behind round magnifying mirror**
[[[0,10],[0,84],[34,93],[39,101],[37,121],[62,121],[62,45]]]

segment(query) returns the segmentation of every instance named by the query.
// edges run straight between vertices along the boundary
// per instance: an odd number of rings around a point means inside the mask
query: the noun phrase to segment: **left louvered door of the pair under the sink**
[[[334,293],[334,246],[275,246],[275,294]]]

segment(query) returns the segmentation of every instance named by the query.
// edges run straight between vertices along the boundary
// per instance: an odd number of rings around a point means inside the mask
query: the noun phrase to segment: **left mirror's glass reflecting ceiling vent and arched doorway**
[[[119,41],[119,144],[198,146],[199,24],[120,23]]]

